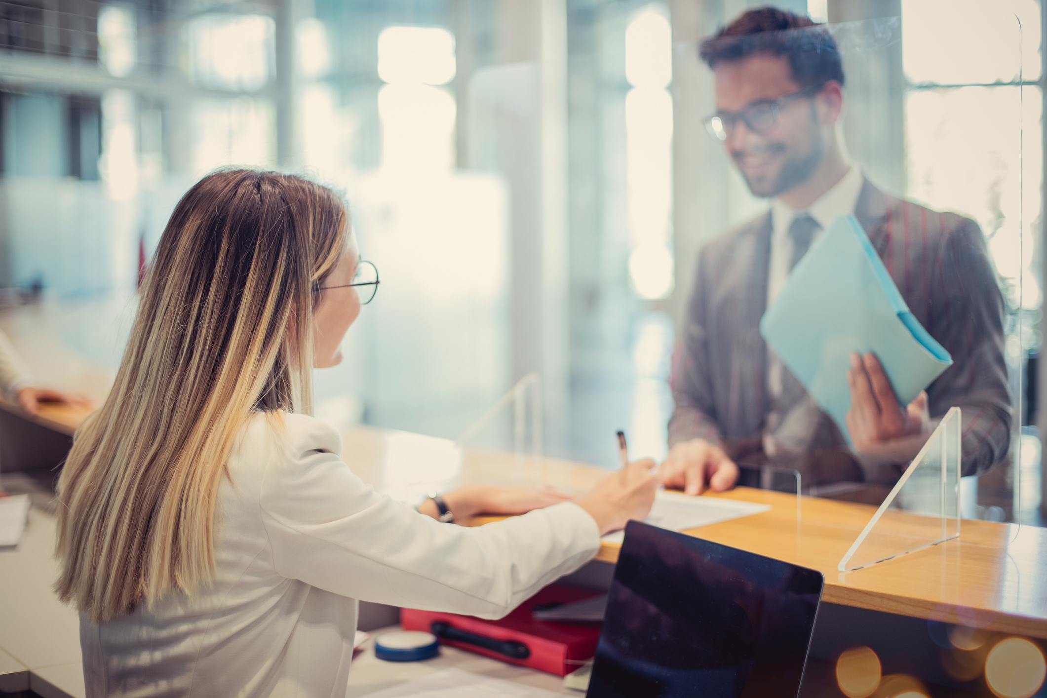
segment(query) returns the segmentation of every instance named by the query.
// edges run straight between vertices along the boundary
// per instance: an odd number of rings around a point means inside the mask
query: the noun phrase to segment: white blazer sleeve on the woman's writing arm
[[[502,617],[600,546],[596,522],[564,502],[465,527],[378,495],[321,422],[287,415],[260,509],[276,571],[333,593],[407,608]]]

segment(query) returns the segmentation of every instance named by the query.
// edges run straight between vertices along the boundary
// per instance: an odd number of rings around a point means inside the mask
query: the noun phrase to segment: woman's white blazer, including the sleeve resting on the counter
[[[283,421],[254,415],[229,459],[214,584],[101,626],[81,616],[88,698],[344,696],[357,599],[500,617],[600,546],[570,502],[439,523],[364,485],[331,427]]]

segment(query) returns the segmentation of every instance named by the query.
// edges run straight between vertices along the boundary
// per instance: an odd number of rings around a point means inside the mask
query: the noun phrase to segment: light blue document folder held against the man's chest
[[[908,405],[953,363],[909,311],[853,216],[841,216],[793,269],[760,334],[844,436],[852,352],[873,352]]]

